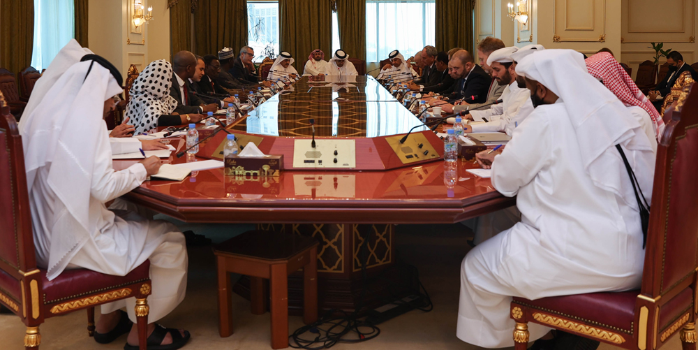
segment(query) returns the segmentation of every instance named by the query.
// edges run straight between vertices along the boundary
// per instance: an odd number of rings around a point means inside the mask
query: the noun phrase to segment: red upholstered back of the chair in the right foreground
[[[695,287],[698,268],[698,88],[667,108],[657,150],[641,293],[666,305]],[[682,293],[683,292],[683,293]],[[695,300],[694,300],[695,301]]]

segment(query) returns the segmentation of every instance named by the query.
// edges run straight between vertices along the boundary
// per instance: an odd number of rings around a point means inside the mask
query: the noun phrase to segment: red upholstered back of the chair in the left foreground
[[[6,277],[22,278],[22,271],[36,268],[31,211],[24,173],[22,138],[15,117],[10,114],[0,94],[0,290],[7,286]],[[5,277],[5,278],[3,278]]]

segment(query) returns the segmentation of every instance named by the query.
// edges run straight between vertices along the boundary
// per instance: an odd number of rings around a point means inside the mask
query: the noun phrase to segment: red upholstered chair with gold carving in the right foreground
[[[657,151],[641,289],[539,300],[514,298],[514,342],[525,350],[528,322],[623,349],[659,349],[677,333],[695,350],[698,313],[698,87],[667,110]],[[623,174],[625,175],[625,174]]]

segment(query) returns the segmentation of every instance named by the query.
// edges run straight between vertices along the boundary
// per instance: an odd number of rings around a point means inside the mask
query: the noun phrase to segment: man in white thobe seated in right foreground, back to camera
[[[477,245],[461,265],[456,335],[511,347],[512,296],[528,299],[637,288],[644,235],[621,145],[644,196],[655,153],[621,101],[586,71],[574,50],[518,61],[537,107],[501,154],[477,154],[493,187],[517,196],[521,222]],[[530,339],[549,328],[530,323]]]

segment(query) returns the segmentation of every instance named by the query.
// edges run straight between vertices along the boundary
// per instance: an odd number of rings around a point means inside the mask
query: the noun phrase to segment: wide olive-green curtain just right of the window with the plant
[[[281,35],[279,48],[295,57],[295,68],[303,71],[308,55],[320,49],[332,56],[332,10],[329,0],[279,0]],[[278,52],[277,52],[278,54]]]

